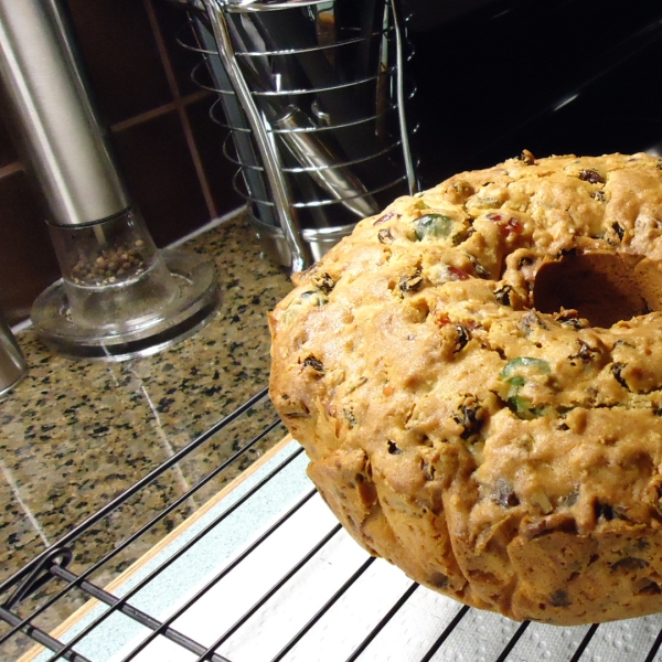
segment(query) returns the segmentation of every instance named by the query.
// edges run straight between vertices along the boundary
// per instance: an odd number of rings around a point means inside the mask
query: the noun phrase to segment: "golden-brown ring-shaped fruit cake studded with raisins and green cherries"
[[[662,610],[662,170],[520,159],[357,224],[270,314],[270,393],[353,537],[465,604]]]

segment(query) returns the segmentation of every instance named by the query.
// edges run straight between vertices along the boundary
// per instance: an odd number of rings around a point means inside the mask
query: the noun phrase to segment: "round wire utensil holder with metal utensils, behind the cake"
[[[195,0],[193,77],[218,95],[267,252],[298,271],[363,217],[417,190],[406,109],[412,50],[397,0]],[[203,81],[206,66],[207,78]]]

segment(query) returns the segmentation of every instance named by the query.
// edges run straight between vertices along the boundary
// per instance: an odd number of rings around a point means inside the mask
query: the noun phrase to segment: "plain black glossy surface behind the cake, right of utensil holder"
[[[662,140],[656,0],[409,0],[425,185],[531,150],[652,149]]]

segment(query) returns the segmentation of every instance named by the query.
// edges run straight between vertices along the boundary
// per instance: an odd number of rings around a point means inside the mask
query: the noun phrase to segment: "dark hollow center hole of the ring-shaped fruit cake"
[[[615,253],[586,253],[546,263],[533,284],[534,306],[548,313],[574,308],[592,327],[605,329],[660,310],[656,263],[634,260]]]

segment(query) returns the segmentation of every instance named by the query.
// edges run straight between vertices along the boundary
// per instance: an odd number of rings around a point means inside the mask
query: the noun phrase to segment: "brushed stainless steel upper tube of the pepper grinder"
[[[0,75],[57,225],[129,206],[55,0],[0,0]]]

